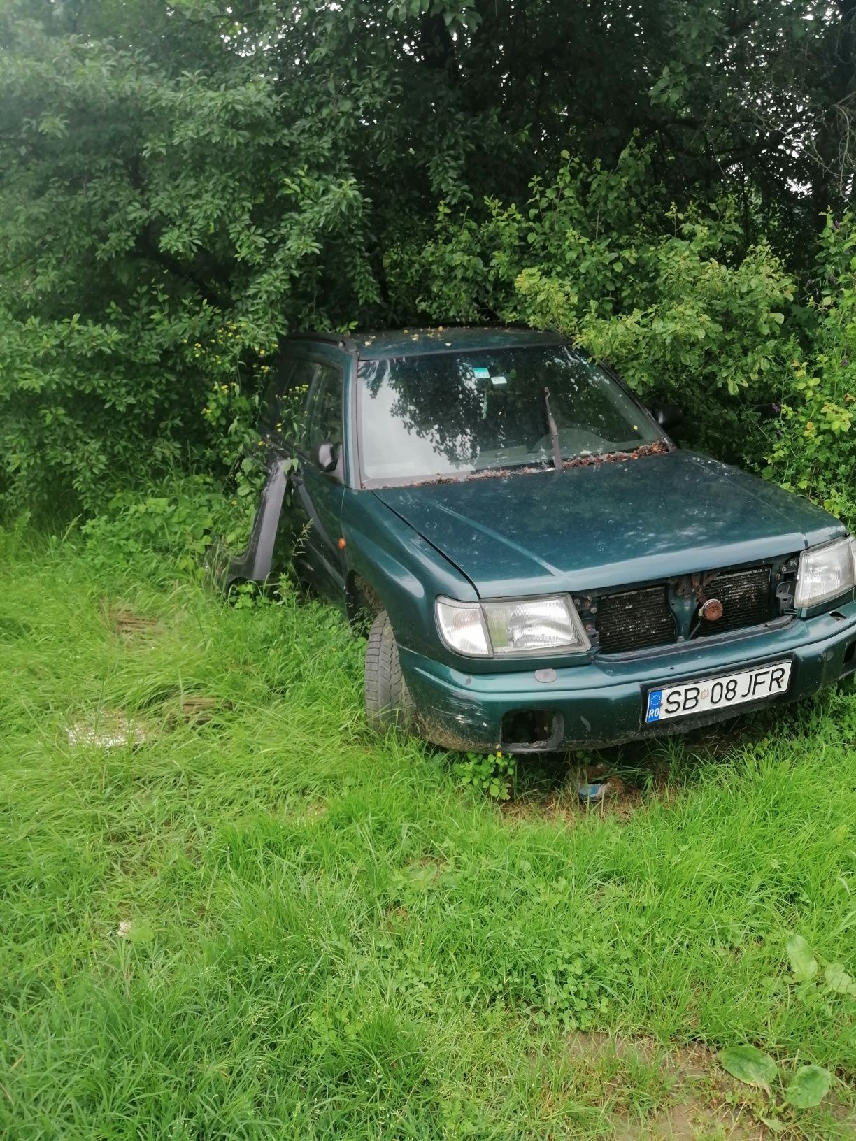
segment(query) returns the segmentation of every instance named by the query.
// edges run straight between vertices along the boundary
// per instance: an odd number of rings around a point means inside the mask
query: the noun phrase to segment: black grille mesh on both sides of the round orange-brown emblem
[[[669,583],[601,594],[591,615],[604,654],[628,654],[678,640],[678,625],[669,607]],[[742,630],[769,622],[776,614],[770,567],[721,572],[706,576],[706,598],[718,598],[722,616],[716,622],[694,620],[691,638]]]

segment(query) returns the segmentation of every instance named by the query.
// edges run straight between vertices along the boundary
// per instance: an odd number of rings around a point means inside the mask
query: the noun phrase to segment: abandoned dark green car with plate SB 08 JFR
[[[221,580],[268,578],[297,540],[299,577],[369,615],[373,727],[482,752],[609,745],[856,670],[842,524],[677,447],[560,337],[301,335],[272,375],[267,484]]]

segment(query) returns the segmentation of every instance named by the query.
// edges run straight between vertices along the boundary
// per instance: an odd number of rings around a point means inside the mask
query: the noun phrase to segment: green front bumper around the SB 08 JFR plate
[[[786,695],[729,706],[700,718],[646,725],[648,689],[714,673],[793,662]],[[799,701],[856,670],[856,600],[830,614],[665,650],[599,657],[556,669],[542,682],[534,670],[462,673],[401,649],[401,661],[425,736],[446,748],[514,752],[591,748],[663,734],[686,733],[764,705]],[[543,725],[539,739],[515,741],[519,714]],[[516,734],[519,736],[519,733]]]

